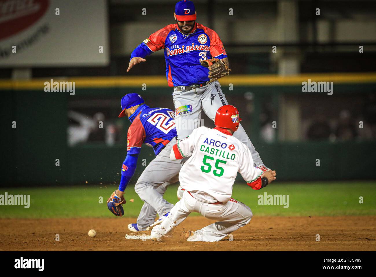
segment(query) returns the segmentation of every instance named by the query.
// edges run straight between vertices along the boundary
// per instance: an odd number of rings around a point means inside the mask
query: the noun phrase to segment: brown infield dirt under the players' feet
[[[233,233],[233,241],[180,242],[183,230],[213,221],[188,217],[163,242],[127,240],[133,218],[0,219],[1,251],[375,251],[376,216],[253,217]],[[88,231],[97,236],[91,238]],[[56,241],[59,234],[60,241]],[[316,234],[320,241],[316,241]],[[115,244],[116,243],[116,247]]]

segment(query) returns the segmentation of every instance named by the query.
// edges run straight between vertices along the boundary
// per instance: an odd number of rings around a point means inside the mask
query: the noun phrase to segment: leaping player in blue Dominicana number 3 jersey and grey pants
[[[202,111],[214,121],[218,108],[228,104],[217,80],[230,69],[218,34],[196,23],[193,2],[177,2],[174,18],[176,24],[156,31],[133,50],[127,72],[164,49],[167,83],[174,88],[177,138],[182,139],[200,126]],[[255,165],[266,168],[241,125],[234,136],[249,148]]]

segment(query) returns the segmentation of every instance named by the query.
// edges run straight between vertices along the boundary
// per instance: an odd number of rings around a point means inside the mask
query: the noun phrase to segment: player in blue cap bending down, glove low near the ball
[[[137,223],[128,225],[132,232],[145,231],[161,223],[173,204],[163,199],[166,187],[178,181],[180,162],[171,161],[171,148],[176,142],[175,113],[166,108],[150,108],[138,93],[129,93],[121,99],[123,109],[119,117],[127,116],[132,122],[127,135],[127,156],[121,168],[118,190],[107,200],[108,209],[115,216],[123,216],[124,190],[136,170],[137,158],[143,143],[152,146],[156,158],[138,178],[135,191],[145,202]],[[156,214],[159,220],[155,222]]]

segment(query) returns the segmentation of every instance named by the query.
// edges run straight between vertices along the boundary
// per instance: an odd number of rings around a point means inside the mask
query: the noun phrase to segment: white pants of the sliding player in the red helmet
[[[192,193],[194,196],[194,194]],[[208,219],[219,220],[201,230],[194,232],[188,241],[217,242],[240,227],[247,225],[252,218],[251,209],[237,200],[230,200],[224,204],[213,205],[201,202],[188,192],[171,209],[168,217],[152,230],[152,236],[161,238],[179,225],[186,217],[197,212]]]

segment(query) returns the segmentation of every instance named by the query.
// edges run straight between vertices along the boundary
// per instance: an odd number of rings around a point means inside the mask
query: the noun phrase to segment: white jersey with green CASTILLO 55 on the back
[[[190,156],[179,174],[180,185],[187,191],[204,192],[217,201],[227,202],[238,172],[252,188],[261,186],[263,171],[254,166],[249,148],[226,129],[195,129],[187,138],[176,142],[170,158]]]

